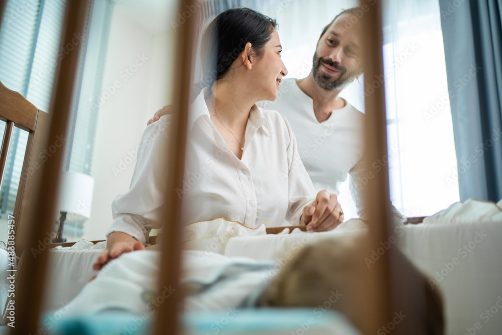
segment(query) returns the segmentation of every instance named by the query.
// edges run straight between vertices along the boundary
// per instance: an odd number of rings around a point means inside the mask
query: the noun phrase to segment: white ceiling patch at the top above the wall
[[[151,34],[171,28],[176,17],[177,0],[115,0],[116,8]]]

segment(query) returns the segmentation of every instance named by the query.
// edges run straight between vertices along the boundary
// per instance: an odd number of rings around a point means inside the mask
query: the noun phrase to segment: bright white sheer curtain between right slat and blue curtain
[[[439,3],[385,0],[383,12],[391,199],[430,215],[459,200]]]

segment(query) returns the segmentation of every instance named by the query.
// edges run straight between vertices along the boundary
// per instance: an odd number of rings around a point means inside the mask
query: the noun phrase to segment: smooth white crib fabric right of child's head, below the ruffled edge
[[[401,249],[443,293],[446,333],[500,334],[502,222],[410,225],[404,232]]]

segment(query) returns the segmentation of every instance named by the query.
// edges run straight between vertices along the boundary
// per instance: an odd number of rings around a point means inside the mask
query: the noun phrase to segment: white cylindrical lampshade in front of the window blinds
[[[94,179],[80,172],[64,171],[59,188],[58,210],[67,221],[85,221],[91,216]]]

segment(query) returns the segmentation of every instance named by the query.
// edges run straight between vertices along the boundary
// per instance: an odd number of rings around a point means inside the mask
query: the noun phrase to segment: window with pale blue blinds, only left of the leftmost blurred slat
[[[0,30],[0,80],[40,110],[48,111],[61,39],[65,0],[10,0]],[[5,123],[2,122],[2,134]],[[21,177],[28,132],[15,128],[0,189],[1,223],[12,213]],[[0,238],[7,236],[5,226]]]

